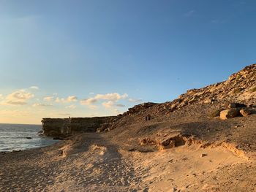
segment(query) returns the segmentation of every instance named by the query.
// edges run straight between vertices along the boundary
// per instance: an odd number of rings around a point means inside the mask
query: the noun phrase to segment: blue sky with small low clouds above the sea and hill
[[[117,115],[255,63],[256,1],[0,0],[0,123]]]

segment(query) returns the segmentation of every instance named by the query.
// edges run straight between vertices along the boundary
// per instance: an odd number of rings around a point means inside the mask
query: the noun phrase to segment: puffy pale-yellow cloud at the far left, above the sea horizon
[[[7,97],[1,104],[24,105],[27,104],[27,101],[33,97],[33,93],[29,93],[21,89],[7,95]]]

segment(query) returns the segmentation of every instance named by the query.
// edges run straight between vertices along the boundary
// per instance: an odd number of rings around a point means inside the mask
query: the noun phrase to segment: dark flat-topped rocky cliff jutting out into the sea
[[[68,137],[77,133],[95,132],[97,128],[111,122],[114,117],[95,118],[43,118],[42,130],[45,136]]]

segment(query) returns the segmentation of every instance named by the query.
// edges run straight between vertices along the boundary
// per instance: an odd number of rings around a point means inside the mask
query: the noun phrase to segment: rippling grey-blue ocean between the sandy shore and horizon
[[[39,125],[0,123],[0,152],[26,150],[58,142],[51,137],[39,137],[39,131],[42,131]]]

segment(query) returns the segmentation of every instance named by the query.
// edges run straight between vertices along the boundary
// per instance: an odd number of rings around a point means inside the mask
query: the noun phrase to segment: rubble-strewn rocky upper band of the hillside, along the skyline
[[[144,120],[147,115],[152,118],[169,116],[176,110],[195,104],[214,104],[223,107],[230,102],[256,105],[256,64],[246,66],[240,72],[232,74],[228,80],[208,85],[204,88],[188,90],[178,99],[162,104],[144,103],[130,108],[116,119],[99,128],[98,131],[110,131],[126,123]]]

